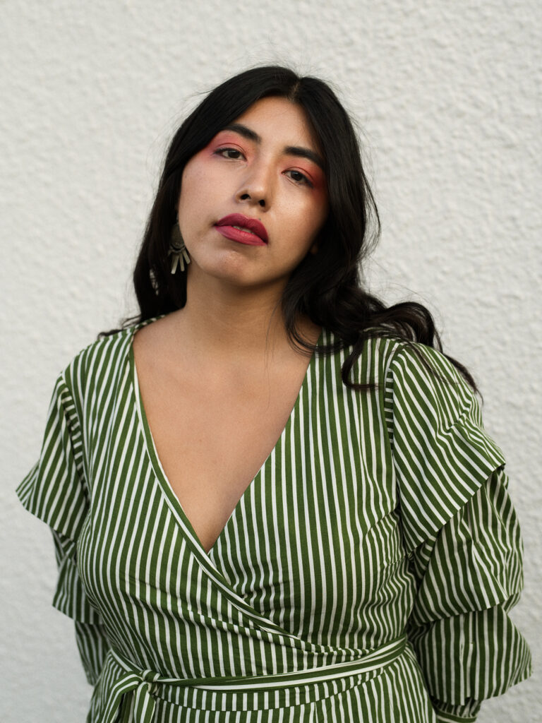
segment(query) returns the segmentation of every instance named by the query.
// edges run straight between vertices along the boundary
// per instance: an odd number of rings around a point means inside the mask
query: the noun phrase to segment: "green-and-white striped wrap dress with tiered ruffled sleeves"
[[[17,487],[52,530],[87,723],[472,722],[530,675],[504,456],[443,354],[416,345],[434,376],[367,340],[350,378],[370,393],[340,378],[348,348],[313,354],[207,553],[142,406],[132,338],[153,320],[61,372]]]

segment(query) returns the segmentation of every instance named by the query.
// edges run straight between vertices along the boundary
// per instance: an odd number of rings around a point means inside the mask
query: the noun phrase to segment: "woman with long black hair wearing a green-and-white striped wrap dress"
[[[361,287],[371,218],[320,80],[249,69],[178,129],[140,314],[59,375],[17,490],[89,722],[474,721],[530,675],[502,451],[427,309]]]

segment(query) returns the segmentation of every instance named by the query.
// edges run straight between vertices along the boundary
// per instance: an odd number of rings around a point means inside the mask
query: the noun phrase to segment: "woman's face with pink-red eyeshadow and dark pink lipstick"
[[[327,218],[319,147],[303,109],[285,98],[258,100],[234,125],[184,168],[178,218],[192,259],[188,273],[280,291],[306,254],[316,252]],[[230,224],[218,231],[216,224],[233,213],[260,221],[267,242],[252,234],[242,239],[256,244],[228,238],[235,236]]]

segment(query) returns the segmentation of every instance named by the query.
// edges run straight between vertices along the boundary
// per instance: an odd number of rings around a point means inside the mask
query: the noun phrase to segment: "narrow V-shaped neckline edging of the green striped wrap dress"
[[[236,516],[238,508],[241,507],[241,505],[244,503],[245,497],[248,497],[251,494],[251,490],[254,487],[255,484],[257,484],[257,481],[261,479],[262,474],[267,469],[267,466],[270,465],[273,456],[275,455],[275,450],[278,448],[278,446],[283,443],[283,440],[286,435],[288,435],[288,431],[291,429],[291,425],[293,424],[293,419],[296,417],[298,413],[298,407],[301,403],[301,398],[306,394],[307,387],[309,385],[309,378],[313,374],[314,371],[314,365],[316,363],[316,354],[313,352],[311,354],[311,358],[309,359],[309,364],[306,367],[305,375],[303,377],[303,381],[301,382],[301,386],[298,390],[298,394],[296,396],[296,401],[293,404],[293,407],[291,408],[290,414],[288,416],[288,419],[286,421],[285,426],[283,427],[282,432],[280,432],[280,435],[275,442],[275,445],[273,446],[270,453],[265,458],[264,463],[257,471],[256,475],[251,479],[249,484],[244,489],[243,494],[238,499],[235,507],[233,508],[231,515],[228,517],[228,520],[226,521],[225,525],[223,526],[223,529],[220,530],[220,533],[218,534],[217,539],[215,539],[215,542],[213,542],[212,546],[209,549],[209,552],[205,549],[203,546],[201,540],[199,539],[199,536],[197,535],[197,532],[195,531],[194,527],[192,526],[192,523],[190,522],[188,515],[186,515],[183,506],[181,505],[181,500],[178,499],[175,492],[173,492],[173,487],[171,486],[171,482],[168,479],[168,476],[165,474],[165,471],[163,469],[162,463],[160,462],[160,458],[158,457],[158,452],[156,450],[155,441],[152,437],[152,432],[150,431],[150,424],[147,419],[147,413],[145,412],[145,406],[143,405],[143,399],[141,395],[141,390],[139,388],[139,379],[137,377],[137,367],[135,364],[135,357],[134,357],[134,335],[135,333],[146,326],[147,324],[152,323],[153,321],[157,321],[158,319],[161,319],[165,316],[165,314],[152,317],[151,319],[147,319],[143,322],[139,322],[135,324],[134,326],[130,327],[129,331],[129,339],[128,339],[128,356],[129,356],[129,372],[130,372],[130,385],[132,388],[132,392],[134,394],[134,400],[136,402],[137,407],[137,418],[139,421],[139,427],[143,432],[143,440],[144,440],[144,446],[145,446],[145,453],[147,454],[147,457],[150,459],[150,463],[152,465],[152,470],[154,471],[154,474],[156,478],[158,479],[158,483],[160,484],[160,489],[163,492],[163,495],[165,495],[165,499],[168,501],[168,504],[170,505],[170,508],[173,509],[173,511],[176,513],[176,516],[181,519],[181,521],[184,523],[184,526],[186,527],[186,530],[189,532],[189,538],[192,538],[192,545],[197,548],[197,550],[205,555],[207,560],[210,560],[213,554],[213,551],[218,547],[218,544],[220,543],[220,539],[224,536],[226,529],[230,526],[231,521]],[[322,346],[324,338],[324,328],[320,330],[320,335],[318,338],[318,341],[316,343],[317,348]]]

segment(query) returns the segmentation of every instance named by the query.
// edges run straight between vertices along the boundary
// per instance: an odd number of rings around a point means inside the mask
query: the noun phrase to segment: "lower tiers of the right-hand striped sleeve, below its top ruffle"
[[[530,675],[508,613],[522,590],[522,539],[504,469],[413,551],[418,591],[408,636],[439,722],[474,721],[483,698]]]

